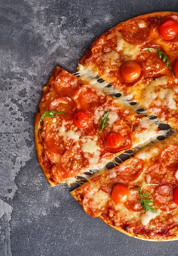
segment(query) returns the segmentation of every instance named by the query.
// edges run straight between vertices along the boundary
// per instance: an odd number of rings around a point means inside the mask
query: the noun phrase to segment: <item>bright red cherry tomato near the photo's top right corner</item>
[[[178,23],[175,20],[166,20],[160,27],[159,33],[164,39],[172,39],[178,33]]]

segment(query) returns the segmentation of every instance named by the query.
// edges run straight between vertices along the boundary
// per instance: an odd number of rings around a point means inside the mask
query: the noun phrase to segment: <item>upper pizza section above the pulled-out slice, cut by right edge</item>
[[[78,70],[98,78],[178,130],[178,13],[141,15],[109,29],[89,47]]]

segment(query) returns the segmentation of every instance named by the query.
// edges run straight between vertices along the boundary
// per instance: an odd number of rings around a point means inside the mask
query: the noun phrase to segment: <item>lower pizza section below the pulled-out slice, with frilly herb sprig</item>
[[[129,236],[178,239],[178,134],[138,151],[71,194],[87,214]]]

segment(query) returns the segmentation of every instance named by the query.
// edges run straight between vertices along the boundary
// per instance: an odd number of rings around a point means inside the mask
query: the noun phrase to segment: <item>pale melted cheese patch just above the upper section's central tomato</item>
[[[140,46],[129,44],[122,38],[121,34],[118,35],[117,51],[123,51],[121,55],[124,61],[135,60],[140,50]]]

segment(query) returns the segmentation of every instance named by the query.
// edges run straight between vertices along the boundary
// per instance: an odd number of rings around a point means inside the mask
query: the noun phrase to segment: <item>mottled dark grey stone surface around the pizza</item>
[[[122,20],[177,11],[177,0],[0,0],[0,256],[177,256],[177,241],[132,239],[86,215],[37,163],[34,116],[55,65],[75,72]]]

